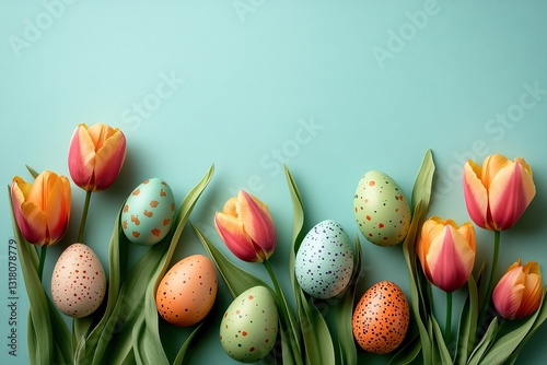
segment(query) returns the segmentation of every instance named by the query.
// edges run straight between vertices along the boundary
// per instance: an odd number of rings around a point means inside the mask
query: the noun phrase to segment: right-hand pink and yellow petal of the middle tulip
[[[236,209],[245,232],[266,254],[271,254],[276,248],[277,236],[268,207],[240,190]]]

